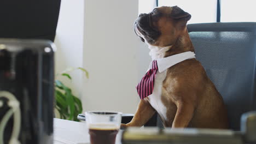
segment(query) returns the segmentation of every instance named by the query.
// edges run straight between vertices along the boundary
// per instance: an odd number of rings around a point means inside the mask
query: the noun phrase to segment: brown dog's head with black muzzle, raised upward
[[[169,46],[187,30],[190,18],[189,13],[177,6],[155,8],[151,13],[139,15],[135,33],[150,45]]]

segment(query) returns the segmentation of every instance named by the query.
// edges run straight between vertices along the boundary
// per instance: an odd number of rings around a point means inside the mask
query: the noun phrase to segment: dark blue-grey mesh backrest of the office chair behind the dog
[[[230,128],[242,113],[256,110],[256,22],[188,25],[196,59],[224,99]]]

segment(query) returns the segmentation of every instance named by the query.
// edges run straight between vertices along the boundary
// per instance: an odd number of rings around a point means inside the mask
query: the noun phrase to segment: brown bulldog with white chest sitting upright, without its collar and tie
[[[139,15],[135,32],[149,46],[152,59],[194,52],[187,30],[190,18],[177,6],[155,8]],[[168,68],[159,99],[142,99],[132,121],[121,127],[141,127],[155,112],[165,127],[228,128],[223,98],[195,58]]]

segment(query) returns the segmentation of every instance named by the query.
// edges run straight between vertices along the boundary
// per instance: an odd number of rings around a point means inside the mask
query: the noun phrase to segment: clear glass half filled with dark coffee
[[[121,112],[85,112],[91,144],[115,144],[120,129]]]

